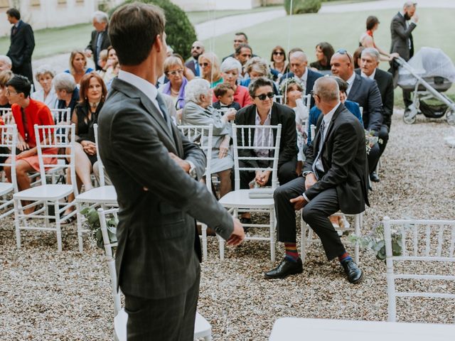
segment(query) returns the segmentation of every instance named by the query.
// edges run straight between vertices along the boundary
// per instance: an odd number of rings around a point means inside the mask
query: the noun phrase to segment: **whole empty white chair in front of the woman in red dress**
[[[68,131],[71,138],[70,141],[65,139],[62,141],[58,139],[58,129],[63,128]],[[36,187],[28,188],[27,190],[21,190],[18,193],[14,193],[14,217],[16,224],[16,244],[18,249],[21,248],[21,229],[32,229],[32,230],[43,230],[43,231],[55,231],[57,234],[57,245],[58,251],[62,251],[62,236],[60,230],[60,224],[63,220],[73,217],[76,214],[75,211],[70,212],[68,215],[60,214],[65,212],[69,207],[74,205],[74,202],[66,202],[65,198],[74,193],[77,195],[76,175],[75,175],[75,125],[70,126],[34,126],[36,136],[36,147],[38,149],[38,161],[40,166],[40,178],[41,185]],[[40,136],[42,138],[40,139]],[[44,148],[54,148],[54,153],[43,153]],[[69,150],[70,154],[59,154],[58,150],[65,148]],[[50,163],[50,158],[68,159],[66,163]],[[65,184],[48,184],[46,183],[45,170],[46,168],[70,168],[70,177],[73,185]],[[21,200],[31,201],[31,203],[22,207]],[[43,207],[39,208],[39,205]],[[53,205],[54,215],[49,215],[48,206]],[[25,214],[23,210],[27,208],[35,207],[35,211],[30,214]],[[43,215],[41,215],[43,213]],[[43,219],[44,226],[32,227],[28,226],[26,220],[30,219]],[[49,220],[55,220],[55,227],[50,226]]]

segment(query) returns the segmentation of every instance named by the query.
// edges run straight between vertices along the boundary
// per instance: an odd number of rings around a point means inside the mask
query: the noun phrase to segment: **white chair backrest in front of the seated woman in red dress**
[[[60,139],[59,129],[65,129],[70,139]],[[53,125],[53,126],[38,126],[35,124],[36,147],[38,149],[38,161],[40,165],[41,184],[46,184],[45,171],[53,168],[70,168],[71,183],[73,190],[77,196],[76,173],[75,173],[75,124],[71,125]],[[59,154],[60,148],[65,150],[65,153]],[[43,153],[45,151],[45,153]],[[70,153],[67,153],[70,151]],[[57,163],[50,163],[53,158],[57,159]],[[68,163],[65,162],[68,160]],[[58,162],[63,160],[63,162]]]

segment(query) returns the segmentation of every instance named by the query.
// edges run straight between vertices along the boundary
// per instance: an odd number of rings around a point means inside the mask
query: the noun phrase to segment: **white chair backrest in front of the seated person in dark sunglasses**
[[[260,146],[255,146],[255,134],[262,130],[262,141]],[[274,138],[276,131],[276,138]],[[240,171],[272,171],[272,188],[278,185],[278,156],[279,144],[282,135],[282,125],[277,126],[241,126],[232,124],[232,143],[234,147],[234,179],[235,190],[240,190]],[[268,139],[269,144],[267,144]],[[273,144],[273,146],[272,146]],[[272,156],[239,156],[239,151],[266,150],[272,151]],[[249,153],[250,154],[250,153]],[[253,153],[254,155],[254,153]],[[269,167],[240,167],[239,161],[273,161],[272,168]]]

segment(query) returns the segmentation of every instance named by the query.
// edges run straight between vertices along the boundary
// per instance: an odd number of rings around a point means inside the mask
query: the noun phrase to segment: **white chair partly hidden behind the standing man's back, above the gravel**
[[[79,251],[82,253],[83,249],[83,241],[82,241],[82,233],[88,232],[87,229],[82,229],[82,205],[89,204],[90,207],[101,206],[106,208],[107,206],[117,206],[117,192],[115,191],[114,186],[112,185],[105,185],[105,171],[102,165],[102,161],[100,158],[100,151],[98,149],[98,124],[93,124],[93,131],[95,134],[95,145],[97,150],[97,164],[100,171],[100,187],[92,188],[91,190],[87,190],[80,195],[75,197],[76,202],[76,217],[77,217],[77,241],[79,243]]]

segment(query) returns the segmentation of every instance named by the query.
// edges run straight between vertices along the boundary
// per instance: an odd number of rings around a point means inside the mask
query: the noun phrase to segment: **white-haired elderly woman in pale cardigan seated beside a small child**
[[[210,173],[220,177],[220,197],[231,190],[230,173],[234,166],[230,148],[230,124],[235,119],[235,113],[224,116],[215,110],[212,103],[210,83],[201,78],[195,78],[186,85],[186,105],[183,107],[182,124],[208,126],[213,124],[212,158]],[[207,145],[207,137],[203,136],[203,144]],[[207,175],[210,176],[210,175]]]

